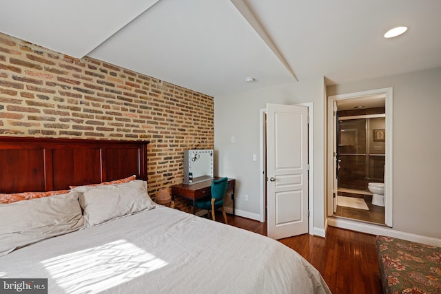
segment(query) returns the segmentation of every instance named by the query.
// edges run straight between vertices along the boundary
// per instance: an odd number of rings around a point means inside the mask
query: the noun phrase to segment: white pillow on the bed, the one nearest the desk
[[[79,202],[83,208],[85,227],[154,207],[147,193],[147,182],[143,180],[116,185],[80,186],[73,191],[82,193]]]

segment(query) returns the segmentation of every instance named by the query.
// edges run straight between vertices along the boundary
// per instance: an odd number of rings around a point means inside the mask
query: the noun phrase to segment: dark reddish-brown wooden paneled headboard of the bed
[[[147,180],[150,141],[0,136],[0,193],[69,189],[109,180]]]

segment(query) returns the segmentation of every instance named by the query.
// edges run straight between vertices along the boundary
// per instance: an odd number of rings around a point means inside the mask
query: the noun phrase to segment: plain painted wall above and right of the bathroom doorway
[[[393,87],[393,229],[441,238],[441,67],[327,87]]]

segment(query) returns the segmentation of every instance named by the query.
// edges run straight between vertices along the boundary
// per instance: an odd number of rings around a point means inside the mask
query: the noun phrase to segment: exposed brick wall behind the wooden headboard
[[[183,150],[214,148],[213,98],[0,33],[0,136],[150,140],[154,197],[183,181]]]

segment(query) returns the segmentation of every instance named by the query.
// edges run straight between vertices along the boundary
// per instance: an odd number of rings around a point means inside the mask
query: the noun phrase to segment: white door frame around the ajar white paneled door
[[[308,232],[310,235],[313,235],[314,232],[314,165],[313,165],[313,103],[299,103],[295,104],[297,106],[305,106],[308,108],[308,164],[309,164],[309,171],[308,171],[308,210],[309,210],[309,216],[308,216]],[[260,130],[259,130],[259,140],[260,140],[260,157],[259,157],[259,174],[260,174],[260,222],[265,222],[267,220],[267,216],[265,213],[265,202],[266,202],[266,177],[267,177],[267,171],[265,167],[266,162],[266,138],[265,138],[265,129],[266,129],[266,120],[265,120],[265,114],[267,112],[266,108],[259,110],[259,124],[260,124]]]

